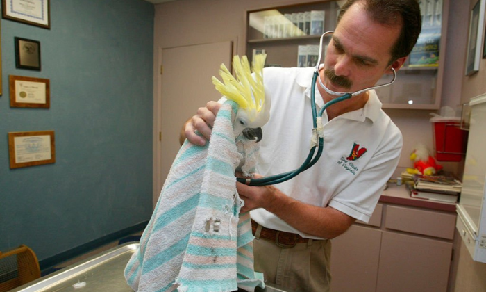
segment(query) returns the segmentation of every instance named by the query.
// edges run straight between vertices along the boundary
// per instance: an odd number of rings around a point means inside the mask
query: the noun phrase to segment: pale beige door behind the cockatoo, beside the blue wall
[[[219,66],[231,68],[233,42],[216,42],[162,49],[162,85],[160,104],[160,172],[156,170],[154,205],[160,195],[172,162],[180,149],[179,133],[183,123],[197,108],[221,95],[211,77],[219,78]],[[156,159],[154,157],[154,159]]]

